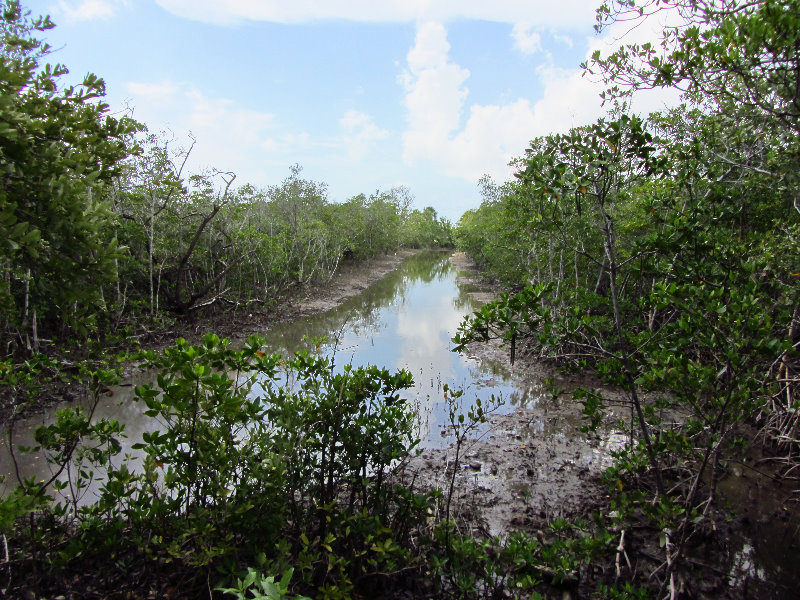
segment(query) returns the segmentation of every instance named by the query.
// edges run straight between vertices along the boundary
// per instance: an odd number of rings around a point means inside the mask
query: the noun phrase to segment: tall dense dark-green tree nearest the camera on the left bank
[[[129,119],[108,116],[103,81],[59,87],[62,65],[33,37],[53,26],[0,4],[0,342],[38,350],[37,332],[85,332],[115,277],[102,200],[127,155]],[[12,334],[13,332],[13,334]]]

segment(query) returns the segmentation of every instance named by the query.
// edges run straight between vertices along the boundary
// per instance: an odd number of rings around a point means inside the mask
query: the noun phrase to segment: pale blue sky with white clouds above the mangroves
[[[454,223],[531,139],[604,114],[582,61],[651,35],[597,36],[599,0],[22,3],[56,23],[48,60],[71,82],[94,73],[112,113],[191,134],[192,171],[266,187],[299,164],[332,202],[403,185]]]

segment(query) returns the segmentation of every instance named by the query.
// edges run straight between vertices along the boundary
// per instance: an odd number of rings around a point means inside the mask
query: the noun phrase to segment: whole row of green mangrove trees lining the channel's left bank
[[[48,18],[15,1],[0,11],[5,355],[200,309],[253,310],[327,282],[343,259],[452,245],[450,223],[413,209],[403,187],[334,203],[299,166],[265,189],[188,173],[192,147],[109,116],[102,79],[70,85],[45,62]]]

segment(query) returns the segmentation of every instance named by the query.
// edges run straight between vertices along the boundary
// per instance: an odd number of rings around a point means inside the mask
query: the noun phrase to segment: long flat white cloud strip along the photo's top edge
[[[320,20],[416,22],[475,19],[540,26],[591,25],[598,0],[156,0],[165,10],[198,21],[236,23]]]

